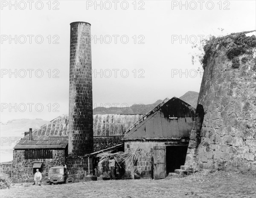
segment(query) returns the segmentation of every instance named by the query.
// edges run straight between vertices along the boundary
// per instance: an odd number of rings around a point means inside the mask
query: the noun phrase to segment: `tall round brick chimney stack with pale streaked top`
[[[93,91],[90,23],[70,23],[68,154],[93,152]]]

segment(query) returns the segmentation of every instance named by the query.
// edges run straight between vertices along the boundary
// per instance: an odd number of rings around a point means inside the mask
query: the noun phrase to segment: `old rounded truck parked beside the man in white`
[[[68,176],[67,169],[64,166],[54,166],[49,169],[48,182],[49,184],[64,184],[73,183],[75,179]]]

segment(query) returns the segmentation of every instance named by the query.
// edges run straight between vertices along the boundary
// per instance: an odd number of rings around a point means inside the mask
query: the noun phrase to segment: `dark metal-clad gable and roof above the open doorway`
[[[179,98],[166,98],[131,126],[123,140],[161,140],[189,137],[195,108]]]

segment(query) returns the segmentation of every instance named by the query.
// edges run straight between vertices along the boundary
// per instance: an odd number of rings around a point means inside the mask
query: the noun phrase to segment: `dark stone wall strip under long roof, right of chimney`
[[[103,149],[108,149],[112,146],[123,143],[122,136],[94,136],[93,137],[93,152],[97,152]]]

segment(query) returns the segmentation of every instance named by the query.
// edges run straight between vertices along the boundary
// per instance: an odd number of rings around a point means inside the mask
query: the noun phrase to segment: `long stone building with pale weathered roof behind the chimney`
[[[122,143],[123,131],[139,120],[142,115],[93,115],[93,147],[97,152],[108,149]],[[62,115],[44,124],[17,143],[13,151],[13,162],[1,166],[1,172],[7,172],[15,176],[16,181],[30,181],[33,179],[33,172],[39,168],[43,177],[52,166],[60,166],[66,163],[67,158],[80,167],[80,175],[68,164],[70,172],[83,178],[87,171],[87,157],[81,155],[79,158],[72,158],[68,155],[68,115]],[[81,161],[84,163],[81,164]],[[91,166],[92,168],[93,166]],[[12,173],[11,173],[12,170]]]

